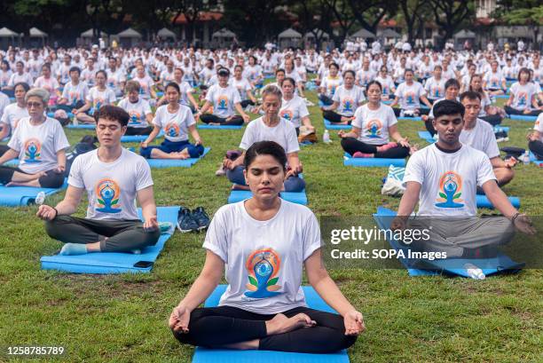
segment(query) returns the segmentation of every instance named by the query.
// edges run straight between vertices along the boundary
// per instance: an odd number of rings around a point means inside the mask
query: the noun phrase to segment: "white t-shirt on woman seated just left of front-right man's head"
[[[352,126],[360,129],[358,140],[370,145],[384,145],[389,142],[389,128],[397,124],[392,107],[381,104],[377,110],[366,105],[358,107]]]

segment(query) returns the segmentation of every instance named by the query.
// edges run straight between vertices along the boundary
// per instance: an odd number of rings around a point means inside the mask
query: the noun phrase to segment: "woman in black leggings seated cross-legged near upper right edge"
[[[509,88],[508,102],[505,111],[508,114],[524,114],[537,116],[541,113],[536,99],[535,85],[531,83],[531,72],[528,68],[521,68],[518,72],[518,82],[511,84]]]

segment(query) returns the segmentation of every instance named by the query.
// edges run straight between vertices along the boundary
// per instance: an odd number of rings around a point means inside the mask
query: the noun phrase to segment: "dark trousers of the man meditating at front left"
[[[160,231],[146,232],[140,220],[95,220],[58,216],[45,222],[45,232],[64,243],[94,243],[100,241],[102,252],[129,252],[154,246]],[[105,239],[107,237],[107,239]]]

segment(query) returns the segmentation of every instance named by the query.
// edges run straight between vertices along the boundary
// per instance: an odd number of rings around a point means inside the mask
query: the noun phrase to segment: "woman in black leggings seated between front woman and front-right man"
[[[343,150],[355,158],[404,159],[410,154],[409,141],[402,138],[397,130],[394,111],[392,107],[382,104],[381,96],[381,83],[368,83],[368,103],[358,107],[351,122],[352,130],[338,132]],[[389,135],[396,142],[389,142]]]

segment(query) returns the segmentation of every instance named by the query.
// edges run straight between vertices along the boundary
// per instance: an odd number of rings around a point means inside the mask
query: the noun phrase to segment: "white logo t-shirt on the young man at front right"
[[[476,186],[495,180],[492,164],[482,151],[462,145],[444,153],[436,144],[414,153],[405,168],[404,184],[421,184],[420,216],[476,216]]]

